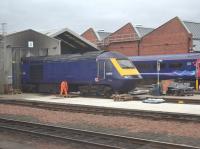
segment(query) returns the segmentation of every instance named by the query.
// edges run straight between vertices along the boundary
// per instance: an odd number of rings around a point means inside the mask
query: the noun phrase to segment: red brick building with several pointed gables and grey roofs
[[[91,31],[87,34],[91,34]],[[87,34],[82,35],[94,41]],[[97,37],[95,44],[101,49],[118,51],[128,56],[195,52],[200,51],[200,23],[181,21],[178,17],[156,29],[134,27],[128,23],[104,39]]]

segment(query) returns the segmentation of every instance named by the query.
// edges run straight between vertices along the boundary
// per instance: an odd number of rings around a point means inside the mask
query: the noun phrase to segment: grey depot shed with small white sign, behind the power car
[[[21,59],[30,56],[48,56],[98,51],[94,44],[64,28],[47,32],[32,29],[0,35],[0,93],[21,86]]]

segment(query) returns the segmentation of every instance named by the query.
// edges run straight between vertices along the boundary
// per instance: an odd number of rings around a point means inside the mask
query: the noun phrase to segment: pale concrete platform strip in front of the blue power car
[[[143,103],[142,101],[113,101],[112,99],[101,98],[85,98],[74,97],[64,98],[58,95],[42,95],[42,94],[16,94],[16,95],[0,95],[0,100],[3,99],[25,99],[44,102],[56,102],[67,104],[81,104],[100,107],[152,110],[163,112],[176,112],[200,115],[200,105],[196,104],[177,104],[177,103]]]

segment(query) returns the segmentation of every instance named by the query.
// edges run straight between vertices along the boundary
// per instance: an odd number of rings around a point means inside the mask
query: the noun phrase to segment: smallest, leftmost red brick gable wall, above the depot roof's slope
[[[98,38],[92,28],[86,30],[81,36],[94,44],[96,44],[98,41]]]

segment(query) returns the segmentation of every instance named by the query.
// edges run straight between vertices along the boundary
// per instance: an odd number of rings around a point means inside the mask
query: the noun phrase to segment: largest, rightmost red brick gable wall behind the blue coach
[[[140,44],[140,55],[188,53],[191,35],[175,17],[153,32],[144,36]]]

